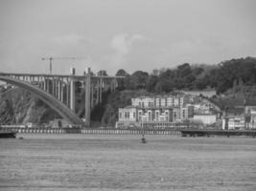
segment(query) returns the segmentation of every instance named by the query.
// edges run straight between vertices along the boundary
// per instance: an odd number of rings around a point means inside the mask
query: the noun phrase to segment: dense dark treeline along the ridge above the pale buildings
[[[146,89],[151,93],[170,93],[181,89],[214,88],[220,94],[237,85],[256,84],[256,59],[232,59],[214,66],[185,63],[176,69],[153,70],[151,74],[143,71],[128,74],[122,69],[116,75],[125,76],[120,86],[126,90]]]

